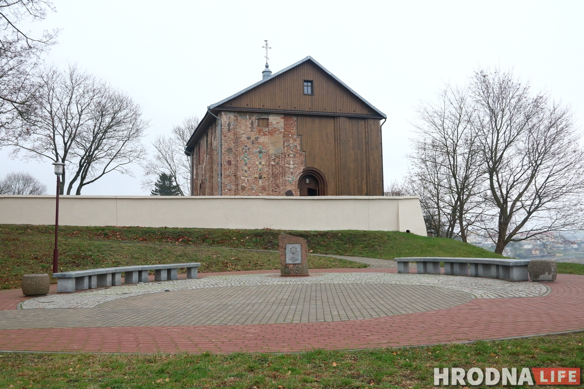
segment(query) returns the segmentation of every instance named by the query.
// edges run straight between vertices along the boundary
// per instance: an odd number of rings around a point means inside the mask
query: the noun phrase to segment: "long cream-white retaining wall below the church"
[[[61,196],[59,224],[282,230],[410,230],[418,197]],[[0,224],[55,223],[54,196],[0,195]]]

